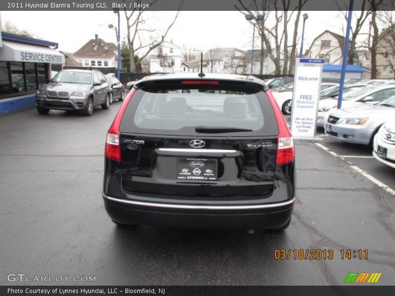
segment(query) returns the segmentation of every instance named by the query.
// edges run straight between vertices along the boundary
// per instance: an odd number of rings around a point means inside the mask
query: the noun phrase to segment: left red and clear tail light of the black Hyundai
[[[132,88],[129,93],[127,94],[125,100],[123,101],[122,106],[119,108],[117,115],[113,123],[110,126],[110,129],[107,132],[107,139],[106,139],[106,149],[105,155],[106,157],[120,161],[120,132],[119,126],[122,121],[123,113],[126,110],[127,104],[129,104],[130,98],[135,93],[136,89]]]

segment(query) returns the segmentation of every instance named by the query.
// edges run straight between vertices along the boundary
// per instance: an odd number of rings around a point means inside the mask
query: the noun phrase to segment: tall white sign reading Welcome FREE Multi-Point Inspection
[[[296,60],[290,126],[294,139],[315,138],[323,63],[321,59]]]

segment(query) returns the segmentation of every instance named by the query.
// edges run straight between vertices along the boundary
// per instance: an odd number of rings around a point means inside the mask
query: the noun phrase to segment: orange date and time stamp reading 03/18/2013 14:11
[[[367,250],[341,249],[340,259],[367,260]],[[333,249],[275,249],[274,258],[276,260],[299,259],[299,260],[332,260],[335,258]]]

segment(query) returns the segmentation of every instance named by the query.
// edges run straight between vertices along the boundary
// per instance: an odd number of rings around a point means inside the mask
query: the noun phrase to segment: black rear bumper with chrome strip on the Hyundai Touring
[[[188,205],[141,202],[114,198],[103,193],[104,205],[112,220],[142,224],[202,229],[272,229],[290,219],[295,198],[259,205]]]

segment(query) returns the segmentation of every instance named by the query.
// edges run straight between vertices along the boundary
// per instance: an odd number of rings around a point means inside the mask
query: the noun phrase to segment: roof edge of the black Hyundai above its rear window
[[[186,79],[186,80],[231,80],[231,81],[244,81],[244,82],[251,82],[256,83],[259,85],[263,85],[267,88],[266,84],[262,82],[262,80],[254,77],[254,76],[247,76],[247,75],[239,75],[239,74],[217,74],[217,73],[205,73],[204,77],[199,77],[199,73],[182,73],[182,74],[154,74],[150,76],[145,76],[144,78],[140,79],[136,82],[136,86],[143,82],[147,81],[160,81],[160,80],[174,80],[174,79]]]

